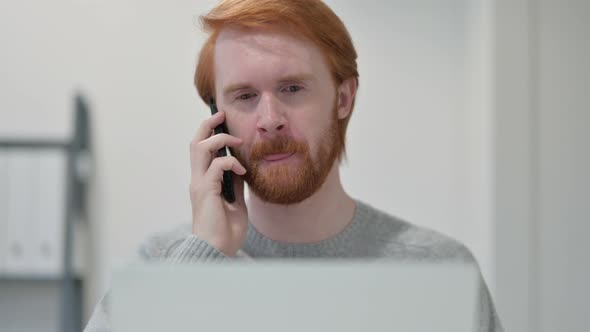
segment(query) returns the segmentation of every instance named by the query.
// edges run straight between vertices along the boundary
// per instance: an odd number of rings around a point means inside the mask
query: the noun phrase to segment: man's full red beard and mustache
[[[320,138],[313,157],[306,142],[288,136],[254,144],[247,153],[248,158],[244,158],[242,151],[235,151],[247,171],[244,180],[256,196],[269,203],[289,205],[302,202],[320,189],[343,146],[336,109],[332,113],[328,130]],[[299,159],[286,164],[261,165],[265,156],[282,153],[293,153],[290,158]]]

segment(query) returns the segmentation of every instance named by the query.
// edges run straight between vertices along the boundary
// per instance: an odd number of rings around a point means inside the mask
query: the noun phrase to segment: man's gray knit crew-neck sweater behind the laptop
[[[222,252],[191,234],[192,226],[157,234],[140,248],[146,261],[178,263],[226,260]],[[336,236],[310,244],[273,241],[250,226],[246,241],[235,259],[354,258],[396,261],[460,261],[477,265],[461,243],[432,230],[420,228],[356,201],[352,222]],[[488,288],[480,276],[478,332],[504,331]],[[110,332],[108,295],[98,303],[84,332]]]

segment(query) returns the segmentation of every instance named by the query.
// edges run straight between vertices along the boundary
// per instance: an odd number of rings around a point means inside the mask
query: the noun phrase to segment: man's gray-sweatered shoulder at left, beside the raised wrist
[[[169,257],[172,251],[191,235],[191,228],[190,223],[180,224],[151,235],[139,246],[140,258],[149,261]]]

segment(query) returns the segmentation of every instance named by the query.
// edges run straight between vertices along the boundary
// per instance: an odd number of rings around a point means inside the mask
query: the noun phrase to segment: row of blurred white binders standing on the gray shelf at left
[[[63,274],[65,153],[12,150],[0,155],[0,275]]]

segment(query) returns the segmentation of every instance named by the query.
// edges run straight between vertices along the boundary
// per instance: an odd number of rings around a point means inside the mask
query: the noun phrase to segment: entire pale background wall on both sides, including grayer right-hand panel
[[[147,236],[190,222],[197,18],[215,2],[0,3],[0,137],[67,137],[73,92],[90,101],[86,316]],[[507,331],[581,331],[588,4],[327,2],[359,53],[347,191],[465,243]]]

